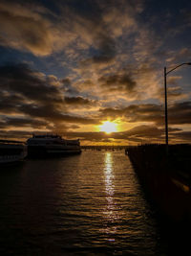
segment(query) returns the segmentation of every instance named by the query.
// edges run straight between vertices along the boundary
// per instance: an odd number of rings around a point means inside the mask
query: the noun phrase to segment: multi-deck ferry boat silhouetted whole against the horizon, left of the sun
[[[66,140],[57,134],[32,134],[27,145],[29,156],[57,156],[81,152],[79,139]]]

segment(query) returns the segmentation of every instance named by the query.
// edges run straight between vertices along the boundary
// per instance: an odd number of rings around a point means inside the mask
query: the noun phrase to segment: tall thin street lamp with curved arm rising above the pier
[[[167,108],[167,88],[166,88],[166,76],[177,69],[182,65],[191,65],[191,62],[181,63],[180,65],[172,68],[166,72],[166,67],[164,67],[164,98],[165,98],[165,139],[166,139],[166,148],[168,148],[168,108]]]

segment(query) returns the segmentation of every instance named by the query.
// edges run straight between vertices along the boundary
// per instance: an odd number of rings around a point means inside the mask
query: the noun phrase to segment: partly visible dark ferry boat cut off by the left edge
[[[0,165],[21,161],[27,153],[27,145],[24,142],[0,140]]]

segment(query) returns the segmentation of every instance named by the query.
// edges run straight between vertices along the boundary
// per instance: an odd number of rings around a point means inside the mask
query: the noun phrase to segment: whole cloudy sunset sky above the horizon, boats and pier
[[[0,24],[1,138],[165,142],[164,66],[191,62],[190,1],[1,0]],[[190,143],[191,66],[167,87],[169,143]]]

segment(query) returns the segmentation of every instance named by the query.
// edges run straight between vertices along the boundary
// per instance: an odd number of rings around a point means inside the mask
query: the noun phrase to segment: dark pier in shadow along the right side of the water
[[[142,145],[126,153],[146,195],[169,220],[191,223],[191,145]]]

